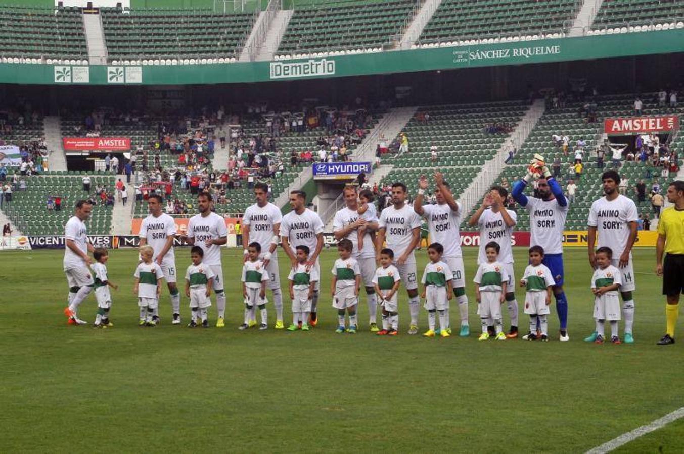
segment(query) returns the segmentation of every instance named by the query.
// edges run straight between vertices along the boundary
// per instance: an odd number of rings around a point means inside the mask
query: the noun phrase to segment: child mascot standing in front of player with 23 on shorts
[[[394,252],[385,248],[380,251],[380,268],[373,276],[373,286],[382,307],[382,330],[378,336],[396,336],[399,334],[399,307],[397,307],[397,290],[402,281],[397,267],[392,264]]]

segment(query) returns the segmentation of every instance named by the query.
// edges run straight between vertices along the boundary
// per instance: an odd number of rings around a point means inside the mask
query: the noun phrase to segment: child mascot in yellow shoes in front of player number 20
[[[428,309],[428,330],[423,333],[424,337],[434,337],[436,313],[439,312],[439,328],[441,337],[449,337],[449,321],[447,320],[447,309],[449,300],[453,298],[453,286],[451,279],[453,273],[449,265],[442,261],[444,246],[439,243],[432,243],[428,246],[428,257],[430,262],[425,266],[423,272],[423,294],[425,298],[425,309]]]

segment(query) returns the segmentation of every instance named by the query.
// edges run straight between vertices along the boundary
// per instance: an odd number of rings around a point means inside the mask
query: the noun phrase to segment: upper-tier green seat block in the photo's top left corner
[[[0,5],[0,57],[87,59],[79,8]]]

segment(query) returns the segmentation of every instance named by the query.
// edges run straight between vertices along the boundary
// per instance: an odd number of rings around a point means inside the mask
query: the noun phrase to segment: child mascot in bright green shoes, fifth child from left
[[[290,299],[292,300],[292,324],[288,331],[308,331],[308,316],[311,315],[311,298],[319,280],[315,266],[308,267],[309,249],[306,244],[295,247],[297,267],[290,270],[287,280],[290,283]],[[300,325],[301,324],[301,325]]]

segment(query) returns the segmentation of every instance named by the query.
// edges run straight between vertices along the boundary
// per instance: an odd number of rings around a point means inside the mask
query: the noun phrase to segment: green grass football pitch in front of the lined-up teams
[[[457,330],[449,339],[406,335],[404,289],[399,336],[367,331],[364,298],[360,331],[335,334],[332,249],[321,255],[320,322],[310,332],[272,329],[272,302],[268,330],[237,330],[243,313],[238,249],[223,253],[223,329],[172,326],[166,287],[161,326],[138,328],[134,250],[110,253],[109,279],[120,285],[112,290],[114,328],[68,326],[62,314],[68,291],[63,251],[2,253],[0,451],[579,453],[684,406],[684,345],[655,345],[665,328],[665,303],[653,274],[653,249],[634,251],[633,345],[582,341],[594,328],[584,248],[565,254],[570,342],[557,341],[555,309],[548,343],[477,341],[475,252],[464,252],[471,301],[471,336],[465,339]],[[514,253],[520,279],[527,251]],[[425,250],[417,257],[421,276]],[[286,283],[283,258],[281,252],[280,279]],[[189,249],[176,249],[179,274],[188,264]],[[516,294],[523,334],[523,289]],[[183,296],[184,322],[187,304]],[[79,315],[92,323],[95,309],[91,295]],[[215,323],[214,307],[210,314]],[[508,328],[508,314],[504,320]],[[451,322],[458,326],[455,302]],[[421,309],[421,332],[426,324]],[[684,421],[676,421],[620,452],[683,449]]]

